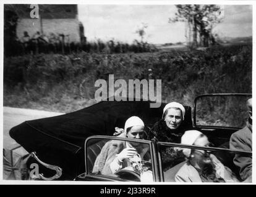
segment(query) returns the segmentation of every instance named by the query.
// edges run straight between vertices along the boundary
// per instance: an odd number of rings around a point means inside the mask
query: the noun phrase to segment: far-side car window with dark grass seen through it
[[[251,95],[209,95],[199,97],[196,102],[197,126],[238,127],[248,118],[246,101]]]

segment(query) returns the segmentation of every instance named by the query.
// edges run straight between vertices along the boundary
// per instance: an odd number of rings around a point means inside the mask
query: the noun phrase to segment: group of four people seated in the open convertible
[[[249,118],[246,126],[231,135],[229,148],[234,151],[252,151],[252,98],[247,101]],[[161,120],[155,123],[145,137],[145,124],[142,119],[132,116],[127,119],[124,129],[116,128],[118,137],[129,139],[147,139],[160,142],[181,143],[183,145],[194,145],[199,147],[212,147],[207,135],[200,131],[184,129],[186,110],[180,103],[168,103],[163,109]],[[100,155],[96,158],[93,172],[111,175],[121,169],[136,171],[140,161],[151,160],[148,145],[143,143],[125,142],[111,140],[102,148]],[[163,166],[174,166],[175,161],[183,165],[175,174],[176,182],[252,182],[252,157],[236,154],[234,164],[239,169],[235,174],[229,167],[224,166],[220,159],[209,150],[196,148],[168,148],[163,151]],[[164,158],[171,157],[171,160]],[[137,166],[137,167],[134,167]],[[139,167],[140,169],[140,167]],[[150,170],[148,173],[139,171],[141,179],[147,174],[147,181],[153,181]]]

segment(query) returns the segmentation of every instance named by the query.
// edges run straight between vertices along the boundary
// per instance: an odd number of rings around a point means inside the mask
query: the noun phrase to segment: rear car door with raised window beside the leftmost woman
[[[133,145],[139,153],[138,161],[122,163],[117,171],[109,165],[123,148]],[[149,140],[95,135],[85,141],[85,173],[76,180],[85,181],[160,181],[158,154],[155,145]]]

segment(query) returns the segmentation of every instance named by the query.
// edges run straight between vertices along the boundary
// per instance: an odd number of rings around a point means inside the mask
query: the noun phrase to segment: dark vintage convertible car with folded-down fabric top
[[[151,140],[127,139],[113,136],[115,127],[124,127],[130,116],[139,116],[146,124],[145,135],[161,118],[164,105],[150,108],[150,101],[103,101],[66,115],[25,121],[11,129],[9,134],[30,153],[27,166],[37,163],[37,179],[82,181],[148,181],[174,182],[174,176],[186,159],[173,159],[168,149],[191,148],[211,151],[224,166],[239,179],[234,166],[235,154],[252,156],[248,151],[229,149],[229,138],[241,129],[247,120],[246,100],[252,94],[205,94],[194,100],[192,108],[185,106],[186,116],[181,127],[197,129],[207,135],[212,147],[198,147]],[[129,141],[148,147],[147,161],[141,161],[140,172],[122,169],[115,174],[101,174],[94,170],[95,160],[109,140]],[[170,149],[171,148],[171,149]],[[167,154],[167,155],[166,155]],[[48,178],[46,178],[48,177]]]

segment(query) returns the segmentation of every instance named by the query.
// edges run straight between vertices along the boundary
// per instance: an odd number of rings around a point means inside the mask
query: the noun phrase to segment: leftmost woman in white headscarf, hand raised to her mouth
[[[122,129],[121,129],[122,130]],[[120,130],[119,130],[120,131]],[[128,137],[130,139],[143,139],[144,123],[137,116],[127,119],[124,126],[124,132],[118,137]],[[114,174],[124,167],[131,166],[132,161],[139,159],[148,160],[148,146],[142,143],[125,142],[120,140],[111,140],[107,142],[96,158],[93,172],[101,174]]]

